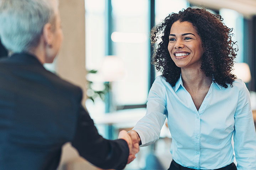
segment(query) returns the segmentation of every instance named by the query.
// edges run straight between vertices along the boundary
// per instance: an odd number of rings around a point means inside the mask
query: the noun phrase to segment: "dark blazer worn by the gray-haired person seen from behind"
[[[81,106],[82,90],[33,55],[0,60],[0,169],[56,169],[64,143],[103,169],[123,169],[126,141],[106,140]]]

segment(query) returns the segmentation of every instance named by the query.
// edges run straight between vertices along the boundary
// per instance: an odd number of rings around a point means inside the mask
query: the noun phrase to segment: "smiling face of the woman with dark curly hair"
[[[168,51],[177,67],[200,68],[204,53],[201,37],[190,22],[172,24]]]

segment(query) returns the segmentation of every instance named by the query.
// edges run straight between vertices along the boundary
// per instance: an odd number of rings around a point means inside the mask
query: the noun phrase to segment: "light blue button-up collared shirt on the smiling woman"
[[[197,111],[181,77],[172,87],[159,76],[150,89],[146,115],[134,127],[141,146],[159,139],[166,117],[172,158],[178,164],[218,169],[234,161],[235,151],[238,170],[256,170],[256,133],[249,91],[242,80],[228,88],[212,83]]]

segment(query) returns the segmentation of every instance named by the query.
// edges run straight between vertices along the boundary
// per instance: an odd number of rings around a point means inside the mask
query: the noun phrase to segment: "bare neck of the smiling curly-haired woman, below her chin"
[[[187,90],[198,91],[202,88],[209,88],[212,84],[212,78],[206,77],[200,68],[181,69],[181,77]]]

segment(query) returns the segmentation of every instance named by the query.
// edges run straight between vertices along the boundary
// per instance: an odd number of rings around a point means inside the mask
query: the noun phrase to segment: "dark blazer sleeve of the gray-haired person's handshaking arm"
[[[78,126],[72,145],[90,163],[102,169],[124,169],[129,156],[123,139],[107,140],[98,134],[94,121],[80,105]]]

